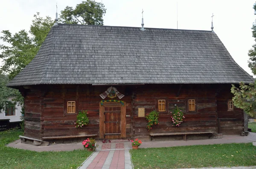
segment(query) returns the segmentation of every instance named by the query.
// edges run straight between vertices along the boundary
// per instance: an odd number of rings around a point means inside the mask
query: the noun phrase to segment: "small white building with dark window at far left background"
[[[10,97],[8,100],[11,101],[13,97]],[[0,120],[2,119],[10,119],[10,122],[21,121],[21,106],[8,106],[6,105],[6,111],[1,110]]]

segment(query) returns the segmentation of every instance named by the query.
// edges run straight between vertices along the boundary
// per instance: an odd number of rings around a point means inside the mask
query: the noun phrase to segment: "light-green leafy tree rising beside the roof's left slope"
[[[14,78],[35,57],[54,22],[50,17],[40,17],[39,13],[34,17],[29,30],[32,37],[25,30],[15,34],[9,30],[1,32],[3,36],[0,39],[9,45],[0,45],[0,58],[4,63],[0,71],[7,73],[9,79]]]

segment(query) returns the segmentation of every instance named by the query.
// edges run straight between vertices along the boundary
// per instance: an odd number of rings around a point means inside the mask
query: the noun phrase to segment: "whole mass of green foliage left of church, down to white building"
[[[0,58],[3,59],[3,66],[0,67],[0,109],[5,109],[5,104],[17,104],[24,111],[24,98],[17,89],[6,87],[9,79],[13,79],[29,62],[35,57],[44,39],[50,31],[54,21],[50,17],[34,15],[29,32],[20,30],[12,34],[9,30],[2,31],[0,39],[8,45],[0,45]],[[3,73],[8,74],[3,75]],[[14,96],[12,101],[9,97]]]

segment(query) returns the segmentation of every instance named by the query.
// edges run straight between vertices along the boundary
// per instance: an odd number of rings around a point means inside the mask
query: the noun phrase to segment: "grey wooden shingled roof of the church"
[[[253,82],[211,31],[58,24],[8,84]]]

